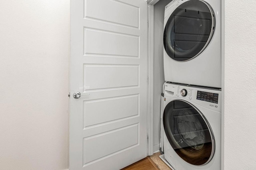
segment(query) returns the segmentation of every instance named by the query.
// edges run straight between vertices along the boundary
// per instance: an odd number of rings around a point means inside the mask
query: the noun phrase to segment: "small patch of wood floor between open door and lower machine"
[[[160,158],[160,152],[148,156],[122,170],[171,170]]]

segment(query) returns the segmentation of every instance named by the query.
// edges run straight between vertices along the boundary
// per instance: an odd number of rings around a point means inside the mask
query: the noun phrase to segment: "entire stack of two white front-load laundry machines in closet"
[[[221,169],[221,0],[173,0],[164,13],[161,158]]]

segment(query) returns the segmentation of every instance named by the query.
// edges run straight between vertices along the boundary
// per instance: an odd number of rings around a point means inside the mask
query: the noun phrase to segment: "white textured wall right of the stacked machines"
[[[256,169],[255,9],[225,0],[225,170]]]

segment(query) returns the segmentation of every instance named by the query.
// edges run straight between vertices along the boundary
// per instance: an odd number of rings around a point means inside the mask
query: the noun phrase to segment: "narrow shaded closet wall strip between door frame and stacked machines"
[[[164,85],[164,8],[172,0],[160,0],[154,5],[154,151],[160,147],[161,93]]]

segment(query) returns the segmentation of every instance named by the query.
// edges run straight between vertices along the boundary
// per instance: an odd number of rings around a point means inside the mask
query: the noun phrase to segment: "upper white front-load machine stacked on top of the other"
[[[164,78],[221,88],[221,0],[173,0],[164,12]]]

